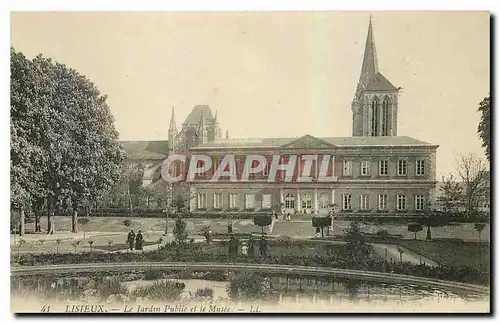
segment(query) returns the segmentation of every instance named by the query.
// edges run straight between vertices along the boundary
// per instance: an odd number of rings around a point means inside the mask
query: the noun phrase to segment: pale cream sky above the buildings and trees
[[[352,135],[368,12],[12,13],[11,43],[92,80],[121,140],[166,140],[198,104],[225,135]],[[477,107],[490,92],[487,12],[374,12],[379,69],[399,97],[398,135],[484,156]]]

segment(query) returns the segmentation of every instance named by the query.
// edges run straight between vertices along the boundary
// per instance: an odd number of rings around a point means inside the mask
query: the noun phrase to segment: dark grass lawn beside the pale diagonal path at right
[[[490,265],[490,244],[453,240],[401,240],[399,244],[445,266]]]

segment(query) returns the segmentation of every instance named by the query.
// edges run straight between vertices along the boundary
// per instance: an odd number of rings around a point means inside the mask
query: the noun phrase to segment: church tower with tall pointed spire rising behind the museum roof
[[[397,136],[398,91],[378,70],[370,16],[361,75],[352,101],[352,135]]]

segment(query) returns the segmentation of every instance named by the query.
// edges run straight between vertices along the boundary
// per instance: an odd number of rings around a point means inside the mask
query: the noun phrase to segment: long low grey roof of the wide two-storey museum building
[[[298,142],[302,139],[326,142],[336,147],[377,147],[377,146],[435,146],[428,142],[406,136],[387,137],[328,137],[315,138],[309,135],[296,138],[241,138],[241,139],[219,139],[207,142],[194,149],[209,148],[278,148]],[[307,146],[307,143],[305,144]],[[436,146],[437,147],[437,146]]]

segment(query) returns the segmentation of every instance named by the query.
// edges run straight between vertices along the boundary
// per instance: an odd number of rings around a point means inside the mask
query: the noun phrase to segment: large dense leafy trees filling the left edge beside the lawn
[[[106,96],[85,76],[11,48],[10,102],[14,209],[40,211],[45,203],[49,214],[76,215],[114,184],[124,151]],[[75,232],[76,224],[75,216]]]

